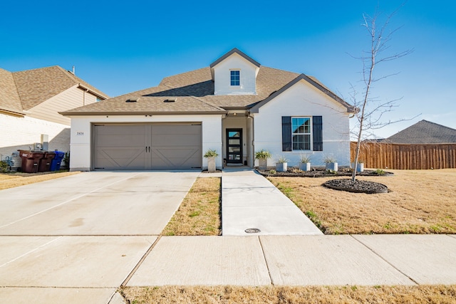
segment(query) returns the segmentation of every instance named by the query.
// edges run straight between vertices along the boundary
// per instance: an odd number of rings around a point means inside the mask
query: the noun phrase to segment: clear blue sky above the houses
[[[402,1],[6,1],[0,18],[0,68],[61,65],[121,95],[169,75],[203,68],[234,47],[261,65],[313,75],[350,102],[361,90],[368,49],[363,13],[383,16]],[[432,4],[432,5],[431,5]],[[419,120],[456,129],[454,1],[409,0],[390,23],[401,27],[390,51],[413,53],[378,65],[379,100],[402,98],[385,120],[413,120],[375,132],[388,137]]]

